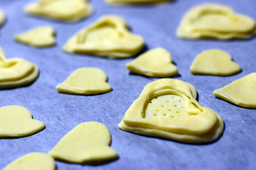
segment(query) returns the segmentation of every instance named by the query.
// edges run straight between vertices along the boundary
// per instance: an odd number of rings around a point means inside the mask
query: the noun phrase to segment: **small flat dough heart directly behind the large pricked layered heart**
[[[164,48],[156,48],[141,54],[126,64],[127,69],[134,73],[152,77],[170,77],[178,73],[172,64],[172,55]]]

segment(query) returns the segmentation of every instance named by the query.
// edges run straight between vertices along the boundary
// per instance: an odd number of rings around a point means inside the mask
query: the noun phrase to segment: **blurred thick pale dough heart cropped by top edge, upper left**
[[[33,15],[68,22],[81,20],[92,13],[87,0],[42,0],[29,4],[25,10]]]

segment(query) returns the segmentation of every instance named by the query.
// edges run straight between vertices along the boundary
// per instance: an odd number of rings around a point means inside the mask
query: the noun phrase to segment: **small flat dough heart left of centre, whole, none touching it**
[[[101,69],[84,67],[68,76],[57,86],[57,90],[67,94],[102,94],[112,90],[107,80],[107,75]]]

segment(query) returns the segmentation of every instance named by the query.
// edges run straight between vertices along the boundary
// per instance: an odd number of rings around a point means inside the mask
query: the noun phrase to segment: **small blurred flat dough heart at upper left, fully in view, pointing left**
[[[55,31],[52,27],[38,27],[14,36],[16,41],[30,46],[44,47],[55,45]]]

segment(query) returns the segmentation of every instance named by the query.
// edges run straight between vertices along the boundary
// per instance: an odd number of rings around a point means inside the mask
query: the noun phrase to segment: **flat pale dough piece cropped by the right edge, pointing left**
[[[256,73],[248,74],[221,89],[214,90],[213,94],[237,106],[256,109]]]

